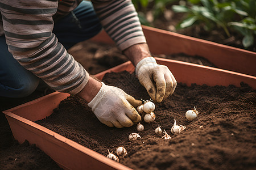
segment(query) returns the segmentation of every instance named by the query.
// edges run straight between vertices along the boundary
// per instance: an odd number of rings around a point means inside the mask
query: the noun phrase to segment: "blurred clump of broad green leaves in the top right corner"
[[[177,29],[204,25],[205,31],[209,32],[217,27],[223,29],[228,37],[230,31],[235,30],[243,36],[242,44],[245,48],[254,45],[255,9],[255,0],[187,0],[185,5],[172,6],[175,12],[187,14]]]

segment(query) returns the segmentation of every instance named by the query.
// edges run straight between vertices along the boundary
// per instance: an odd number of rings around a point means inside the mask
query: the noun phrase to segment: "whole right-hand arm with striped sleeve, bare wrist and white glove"
[[[174,92],[176,80],[166,66],[158,65],[155,59],[150,57],[137,12],[131,1],[92,2],[105,31],[136,66],[139,82],[146,88],[150,97],[158,102],[166,99]]]

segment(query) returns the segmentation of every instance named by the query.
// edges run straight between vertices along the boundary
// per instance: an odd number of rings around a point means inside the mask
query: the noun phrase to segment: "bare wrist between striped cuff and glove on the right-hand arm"
[[[146,43],[132,45],[123,50],[123,54],[130,59],[134,66],[136,66],[143,58],[152,56]]]

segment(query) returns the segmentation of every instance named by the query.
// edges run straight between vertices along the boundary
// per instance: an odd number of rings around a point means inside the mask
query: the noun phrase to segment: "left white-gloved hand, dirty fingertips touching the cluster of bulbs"
[[[98,94],[88,103],[92,111],[102,122],[109,127],[130,127],[134,122],[141,121],[141,116],[135,108],[142,101],[135,100],[123,90],[114,86],[107,86],[103,82]]]

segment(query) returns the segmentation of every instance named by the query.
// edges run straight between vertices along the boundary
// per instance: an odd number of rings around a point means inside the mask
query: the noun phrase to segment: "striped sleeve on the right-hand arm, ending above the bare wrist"
[[[119,49],[146,42],[130,0],[92,0],[92,3],[102,26]]]

